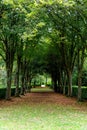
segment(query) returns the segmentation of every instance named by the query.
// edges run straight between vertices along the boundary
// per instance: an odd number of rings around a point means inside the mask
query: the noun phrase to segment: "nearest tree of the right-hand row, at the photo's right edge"
[[[86,57],[87,50],[87,38],[86,38],[86,27],[87,27],[87,13],[86,13],[87,2],[76,0],[76,33],[78,42],[78,57],[77,57],[77,68],[78,68],[78,101],[81,101],[81,85],[82,85],[82,72],[83,65]],[[78,32],[77,32],[78,30]]]

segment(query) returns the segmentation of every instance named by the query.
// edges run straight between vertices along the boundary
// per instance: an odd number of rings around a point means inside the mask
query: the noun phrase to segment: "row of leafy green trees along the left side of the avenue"
[[[31,52],[34,51],[38,36],[38,32],[34,29],[35,23],[33,24],[31,18],[28,18],[30,17],[28,14],[32,15],[31,6],[32,1],[29,3],[0,1],[0,55],[5,62],[7,72],[6,99],[11,97],[14,61],[16,62],[16,96],[19,96],[19,74],[21,94],[24,94],[24,86],[28,86],[27,83],[31,80],[30,64],[33,58]]]

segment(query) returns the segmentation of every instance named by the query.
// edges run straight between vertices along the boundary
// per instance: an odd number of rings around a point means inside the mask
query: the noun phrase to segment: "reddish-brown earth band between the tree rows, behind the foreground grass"
[[[0,100],[0,107],[22,104],[56,104],[64,107],[73,106],[75,109],[87,111],[87,101],[77,102],[76,98],[66,97],[54,92],[31,92],[25,94],[25,96],[12,97],[11,101]]]

